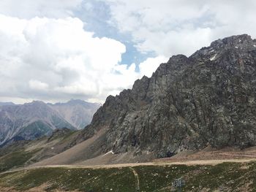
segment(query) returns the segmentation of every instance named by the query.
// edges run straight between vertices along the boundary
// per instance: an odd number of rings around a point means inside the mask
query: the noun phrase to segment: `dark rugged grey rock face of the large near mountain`
[[[154,152],[256,145],[256,40],[212,42],[187,58],[176,55],[131,90],[108,96],[80,135],[107,128],[102,152]]]

